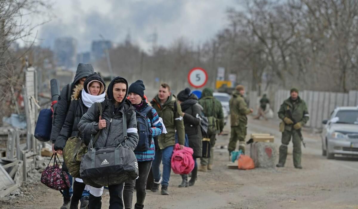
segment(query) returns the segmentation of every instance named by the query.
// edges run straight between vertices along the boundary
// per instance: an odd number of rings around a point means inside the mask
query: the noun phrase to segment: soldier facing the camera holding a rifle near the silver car
[[[287,111],[291,111],[292,121],[288,117]],[[295,168],[302,169],[301,166],[301,138],[297,130],[301,130],[304,124],[309,120],[307,106],[304,100],[298,96],[297,89],[291,89],[291,97],[284,101],[279,110],[279,118],[282,119],[280,131],[282,132],[282,144],[280,146],[280,159],[277,167],[284,167],[287,157],[287,145],[292,136],[293,143],[293,163]]]

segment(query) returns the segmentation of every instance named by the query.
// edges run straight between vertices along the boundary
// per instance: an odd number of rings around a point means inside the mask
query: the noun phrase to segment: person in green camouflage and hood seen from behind
[[[213,96],[213,90],[211,88],[205,88],[198,103],[204,108],[203,113],[206,117],[214,117],[217,119],[216,134],[221,133],[224,128],[224,113],[220,101]],[[210,138],[210,158],[200,158],[200,167],[198,171],[206,172],[213,168],[216,134],[203,136],[205,138]]]

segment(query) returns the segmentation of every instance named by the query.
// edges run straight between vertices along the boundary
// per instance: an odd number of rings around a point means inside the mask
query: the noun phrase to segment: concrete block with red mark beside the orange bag
[[[255,167],[275,168],[277,150],[274,143],[253,142],[250,145],[250,157],[255,162]]]

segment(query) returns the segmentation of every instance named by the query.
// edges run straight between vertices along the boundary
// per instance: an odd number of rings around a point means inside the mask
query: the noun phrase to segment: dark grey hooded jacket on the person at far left
[[[90,64],[86,65],[86,64],[79,63],[77,66],[76,75],[74,76],[74,79],[73,79],[72,86],[69,85],[69,87],[71,87],[71,89],[74,89],[74,87],[78,84],[78,81],[80,79],[91,75],[93,72],[94,72],[94,70],[93,70],[92,65],[90,65]],[[62,88],[60,96],[57,101],[57,107],[55,108],[54,113],[53,113],[52,130],[51,130],[51,137],[50,137],[50,139],[52,140],[52,143],[55,143],[57,137],[60,134],[60,131],[62,129],[64,122],[65,122],[67,111],[69,108],[69,104],[67,102],[67,94],[68,94],[67,86],[68,85],[66,85]],[[72,92],[73,91],[71,90],[71,95],[72,95]]]

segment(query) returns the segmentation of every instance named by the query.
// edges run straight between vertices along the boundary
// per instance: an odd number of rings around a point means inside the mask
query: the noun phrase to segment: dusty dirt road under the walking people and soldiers
[[[278,149],[281,134],[278,132],[277,121],[250,119],[248,135],[254,132],[273,134]],[[321,156],[319,135],[305,132],[303,134],[307,148],[302,148],[302,170],[293,167],[292,143],[289,145],[286,167],[280,169],[227,169],[227,150],[216,149],[213,170],[199,172],[198,181],[193,187],[178,188],[181,177],[172,173],[170,196],[147,191],[145,208],[358,209],[357,160],[342,157],[327,160]],[[228,138],[229,136],[219,136],[216,146],[227,145]],[[39,181],[22,187],[21,191],[25,196],[3,198],[0,208],[58,209],[62,205],[61,194],[48,189]],[[108,208],[108,198],[106,191],[102,199],[102,208]]]

